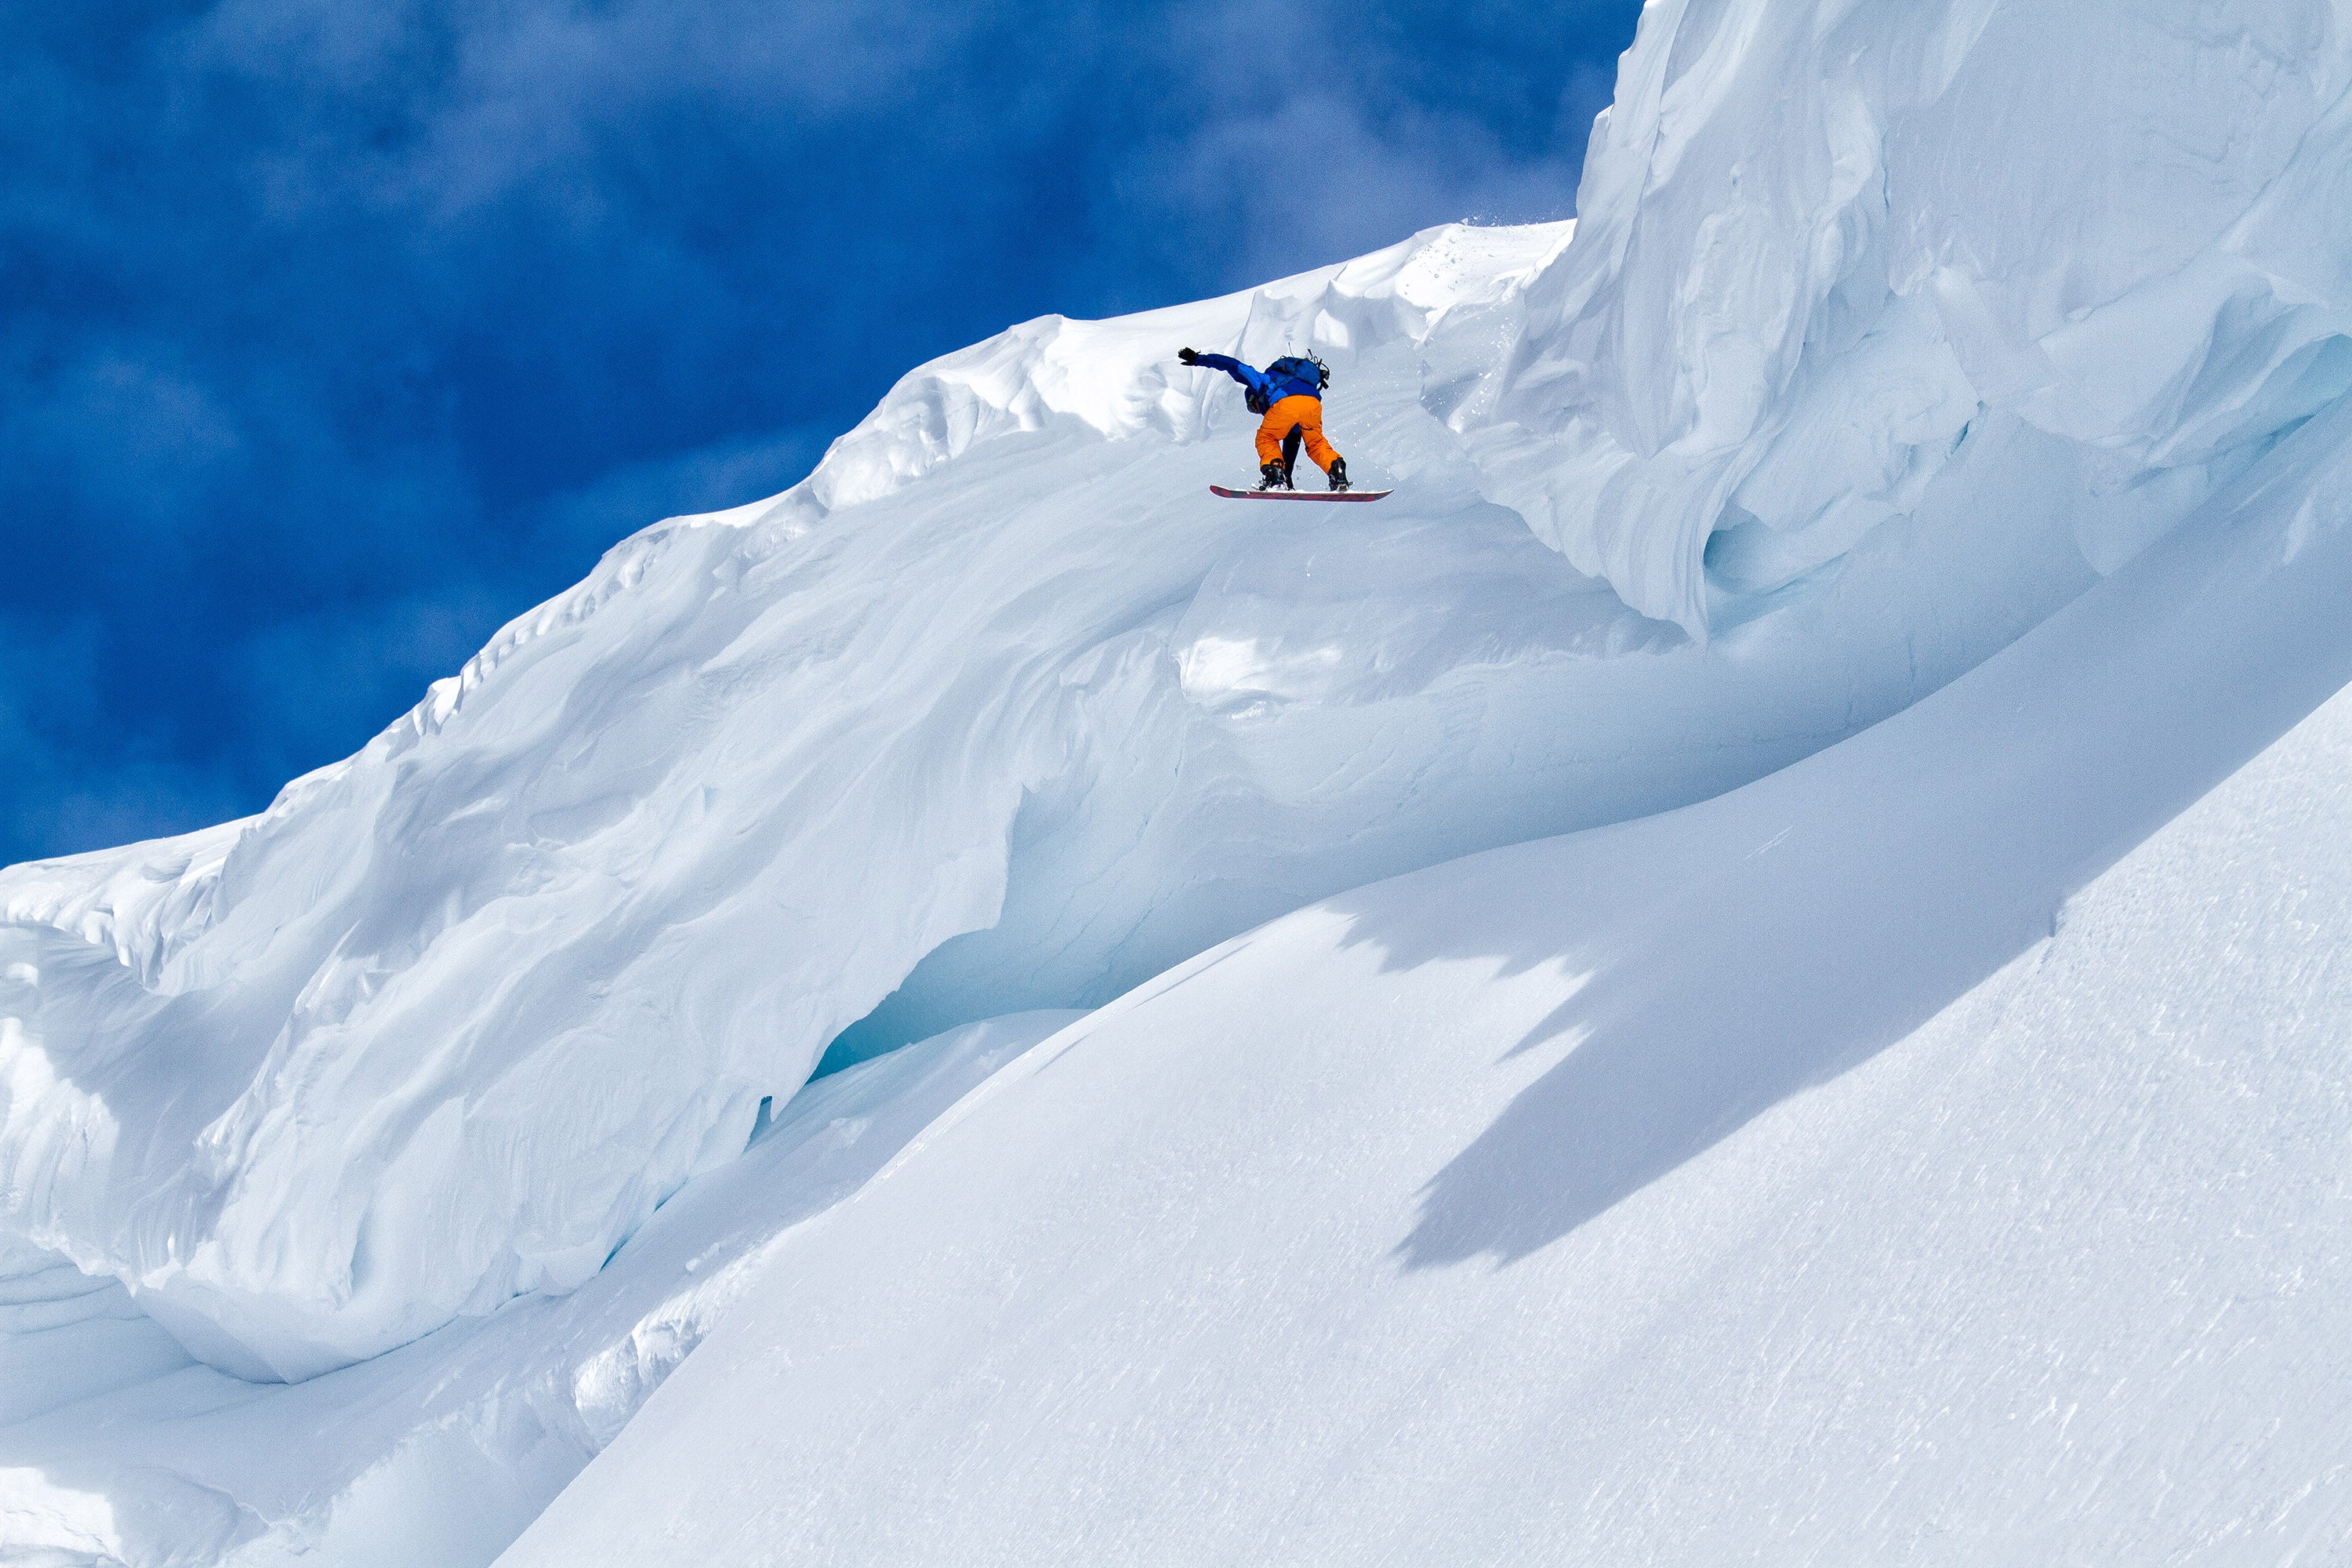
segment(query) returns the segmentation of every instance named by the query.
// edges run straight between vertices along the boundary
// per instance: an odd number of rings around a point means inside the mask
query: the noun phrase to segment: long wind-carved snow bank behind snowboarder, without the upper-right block
[[[198,1359],[318,1375],[576,1288],[894,992],[842,1056],[1712,795],[2093,581],[2063,454],[1987,428],[1797,614],[1724,646],[1635,616],[1479,498],[1421,400],[1414,334],[1508,308],[1564,237],[1435,230],[950,355],[261,818],[7,872],[9,1227]],[[1167,348],[1308,322],[1348,339],[1355,470],[1404,489],[1207,498],[1249,416]],[[2037,508],[1959,517],[2020,482]]]

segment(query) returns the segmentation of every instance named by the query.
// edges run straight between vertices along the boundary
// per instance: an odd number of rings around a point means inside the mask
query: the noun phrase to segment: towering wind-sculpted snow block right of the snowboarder
[[[1578,240],[1454,411],[1484,494],[1693,632],[1915,510],[1987,416],[2103,491],[2211,494],[2352,386],[2347,26],[1653,2]],[[2084,541],[2103,571],[2140,543]]]

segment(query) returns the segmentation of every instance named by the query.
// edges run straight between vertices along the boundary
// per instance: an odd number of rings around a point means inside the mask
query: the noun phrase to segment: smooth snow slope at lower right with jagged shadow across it
[[[2352,679],[2352,407],[2194,522],[1070,1025],[501,1563],[2340,1561],[2352,696],[2131,846]]]

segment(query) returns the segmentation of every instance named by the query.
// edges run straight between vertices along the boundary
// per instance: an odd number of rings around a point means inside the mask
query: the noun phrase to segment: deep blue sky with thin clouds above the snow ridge
[[[1566,216],[1637,12],[0,9],[0,863],[261,809],[1016,320]]]

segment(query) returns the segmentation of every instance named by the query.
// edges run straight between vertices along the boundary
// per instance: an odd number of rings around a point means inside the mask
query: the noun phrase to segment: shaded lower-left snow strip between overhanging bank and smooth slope
[[[837,1072],[574,1295],[299,1385],[191,1361],[113,1281],[0,1260],[0,1300],[24,1302],[0,1307],[0,1559],[487,1563],[795,1227],[1073,1018],[978,1023]]]

